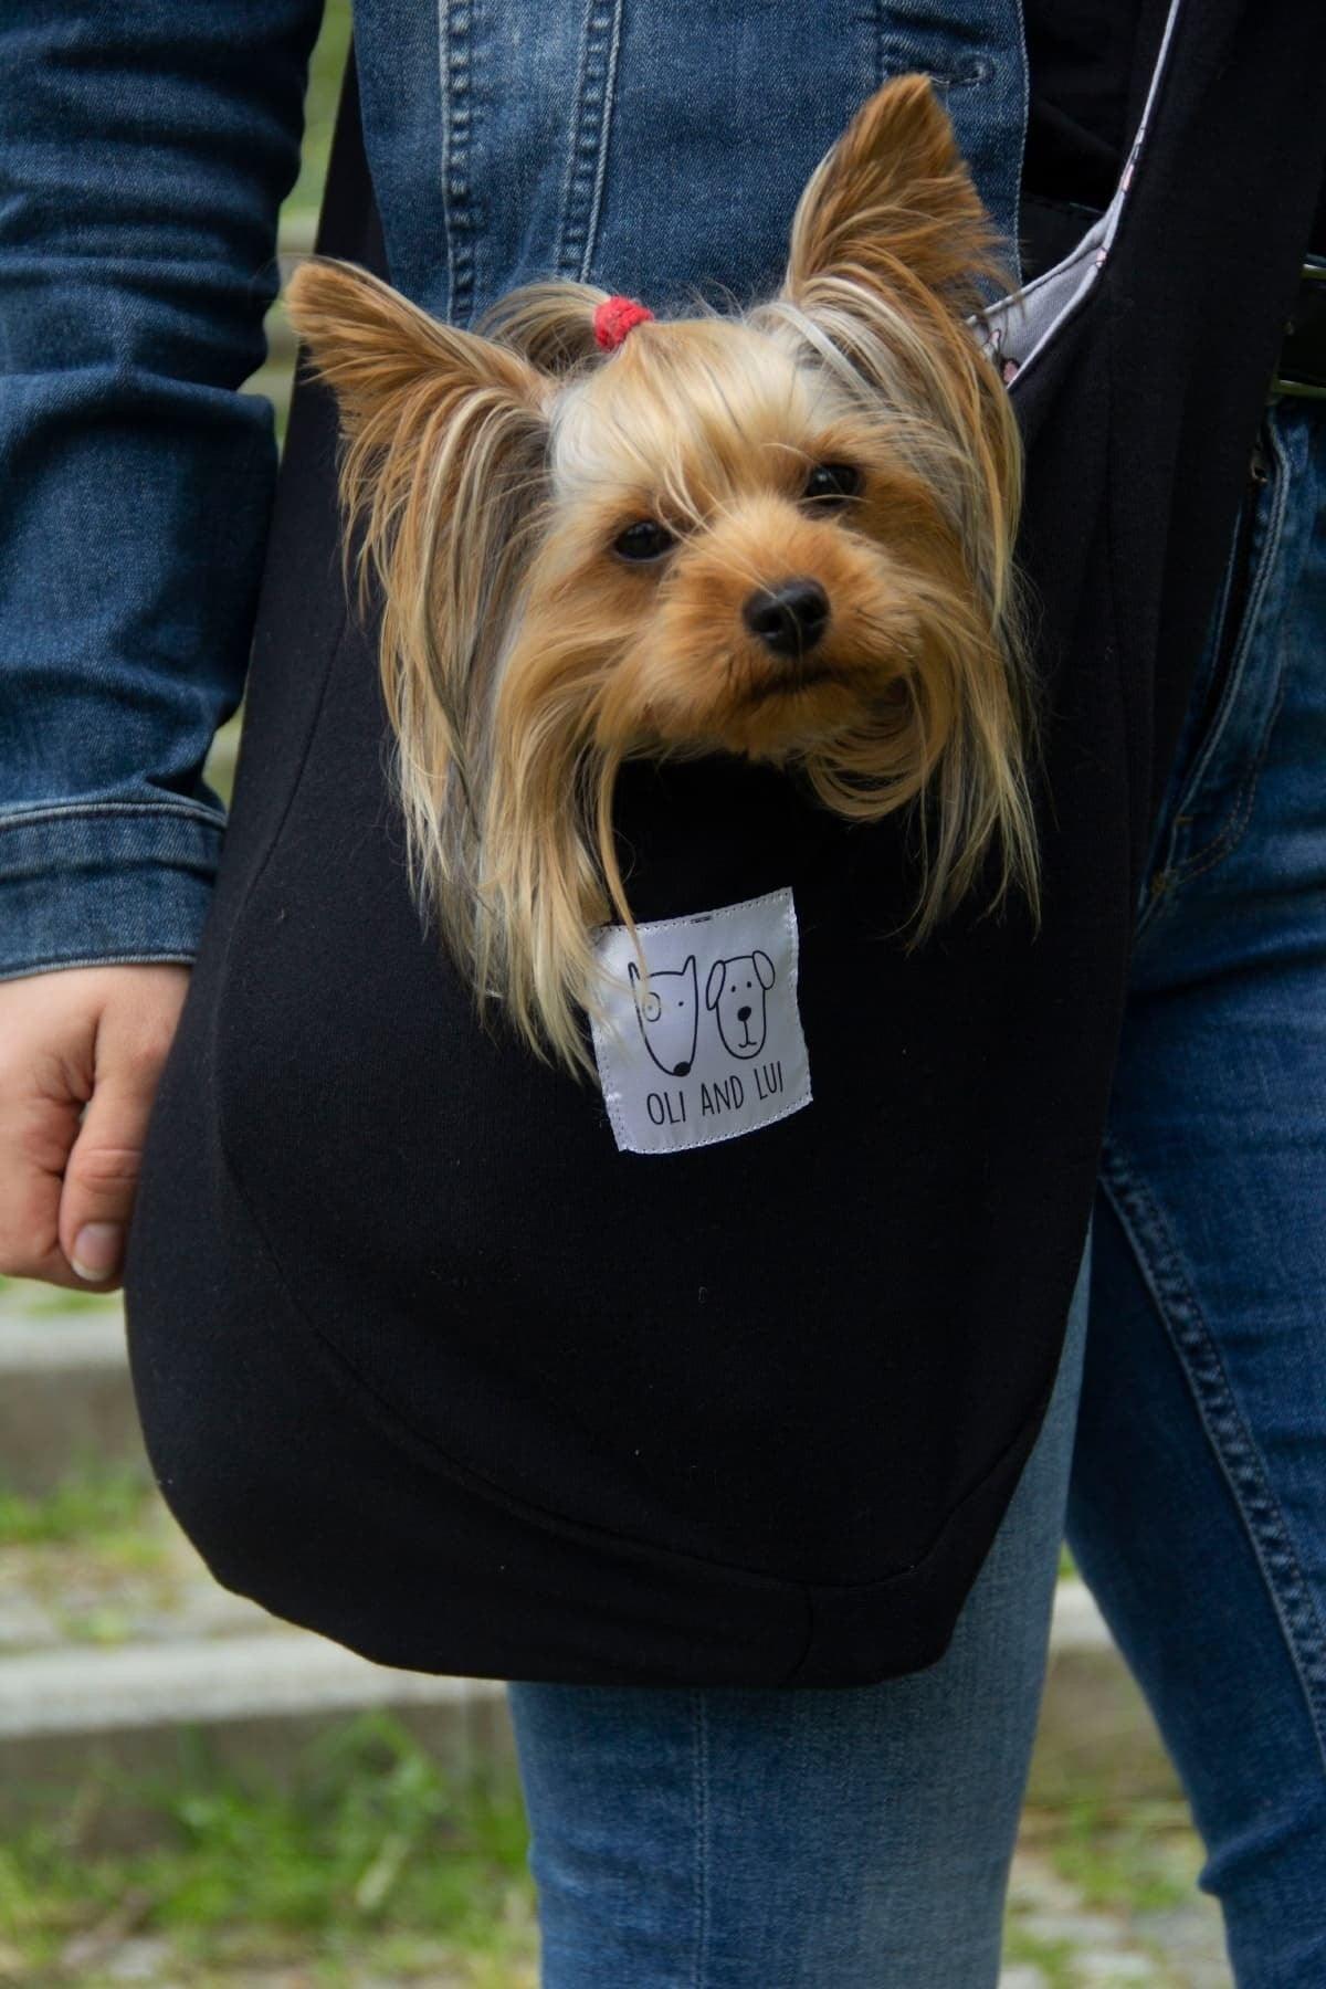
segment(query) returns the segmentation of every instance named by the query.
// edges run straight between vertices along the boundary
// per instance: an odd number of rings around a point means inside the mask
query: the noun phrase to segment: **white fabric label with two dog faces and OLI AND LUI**
[[[590,1020],[620,1152],[684,1154],[811,1102],[791,889],[596,939],[606,1016]]]

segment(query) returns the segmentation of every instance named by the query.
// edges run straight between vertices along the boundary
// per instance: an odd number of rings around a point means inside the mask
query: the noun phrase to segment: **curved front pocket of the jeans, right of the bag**
[[[1175,887],[1221,863],[1248,825],[1278,708],[1290,483],[1286,450],[1264,420],[1159,812],[1139,929]]]

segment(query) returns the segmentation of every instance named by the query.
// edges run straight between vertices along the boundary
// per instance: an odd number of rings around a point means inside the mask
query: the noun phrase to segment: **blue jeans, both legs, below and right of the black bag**
[[[1054,1402],[954,1641],[845,1691],[513,1685],[545,1989],[994,1985],[1066,1518],[1239,1983],[1326,1983],[1326,410],[1268,410],[1258,477]]]

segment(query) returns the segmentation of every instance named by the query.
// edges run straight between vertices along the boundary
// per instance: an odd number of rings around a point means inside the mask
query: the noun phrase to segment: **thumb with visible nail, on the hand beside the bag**
[[[103,1016],[95,1084],[60,1193],[60,1247],[85,1283],[119,1271],[159,1074],[161,1056]]]

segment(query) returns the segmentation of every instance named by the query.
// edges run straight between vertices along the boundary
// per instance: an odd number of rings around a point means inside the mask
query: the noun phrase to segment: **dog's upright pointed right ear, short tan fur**
[[[998,235],[928,76],[899,76],[867,97],[811,173],[791,221],[783,296],[805,302],[817,278],[954,292],[970,306],[974,272],[1010,280]]]

